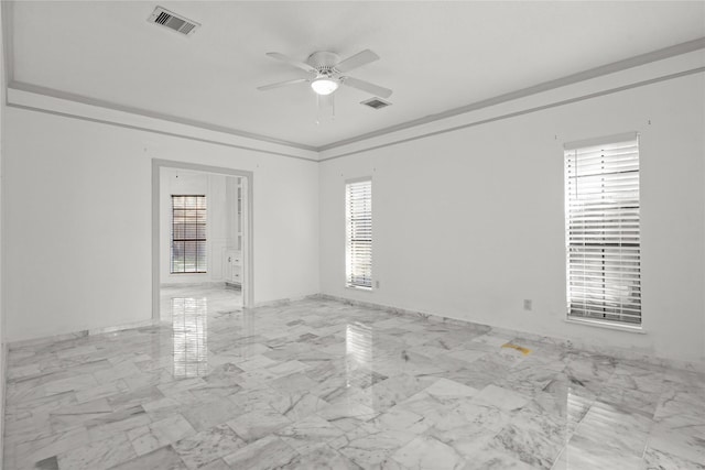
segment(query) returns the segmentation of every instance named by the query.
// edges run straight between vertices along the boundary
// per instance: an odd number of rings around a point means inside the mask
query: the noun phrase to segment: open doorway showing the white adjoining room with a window
[[[251,172],[153,160],[152,318],[204,293],[209,313],[251,306]]]

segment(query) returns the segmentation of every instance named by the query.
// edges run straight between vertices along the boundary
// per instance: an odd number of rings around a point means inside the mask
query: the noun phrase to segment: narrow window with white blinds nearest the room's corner
[[[372,181],[345,185],[346,285],[372,288]]]

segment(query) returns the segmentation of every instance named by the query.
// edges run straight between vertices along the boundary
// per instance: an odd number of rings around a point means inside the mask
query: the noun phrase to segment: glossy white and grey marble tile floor
[[[11,349],[4,468],[705,469],[703,374],[200,294],[160,326]]]

